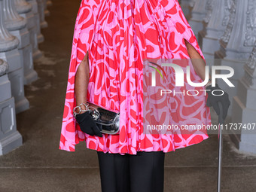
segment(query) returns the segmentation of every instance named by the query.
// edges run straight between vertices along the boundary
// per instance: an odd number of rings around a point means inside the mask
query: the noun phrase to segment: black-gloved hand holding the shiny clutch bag
[[[90,136],[99,136],[102,137],[102,127],[97,126],[96,122],[93,120],[90,111],[86,111],[82,114],[76,115],[76,120],[80,126],[82,132],[89,134]]]

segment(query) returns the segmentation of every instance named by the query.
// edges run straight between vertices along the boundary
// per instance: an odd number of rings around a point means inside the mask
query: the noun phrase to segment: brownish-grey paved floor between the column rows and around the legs
[[[23,145],[0,157],[0,191],[100,191],[96,151],[84,142],[59,150],[69,56],[80,0],[54,0],[35,62],[39,79],[25,87],[30,108],[17,114]],[[216,191],[218,136],[166,154],[165,191]],[[224,137],[222,191],[255,191],[256,156],[242,154]]]

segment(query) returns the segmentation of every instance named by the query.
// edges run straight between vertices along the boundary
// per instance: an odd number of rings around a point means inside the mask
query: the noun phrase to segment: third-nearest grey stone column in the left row
[[[5,24],[11,35],[20,40],[18,50],[20,52],[20,62],[24,72],[24,84],[29,84],[38,78],[33,69],[32,44],[30,44],[29,31],[26,28],[26,20],[17,14],[14,7],[14,0],[4,0]]]

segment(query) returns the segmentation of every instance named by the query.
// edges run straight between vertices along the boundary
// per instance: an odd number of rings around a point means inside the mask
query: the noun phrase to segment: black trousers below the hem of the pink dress
[[[163,151],[97,154],[102,192],[163,192]]]

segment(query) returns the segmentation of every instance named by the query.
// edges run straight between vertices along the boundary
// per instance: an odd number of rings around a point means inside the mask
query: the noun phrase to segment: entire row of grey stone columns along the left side
[[[38,41],[44,41],[46,5],[51,1],[0,0],[0,155],[23,142],[16,114],[29,108],[24,83],[37,78],[33,59],[41,56]]]

